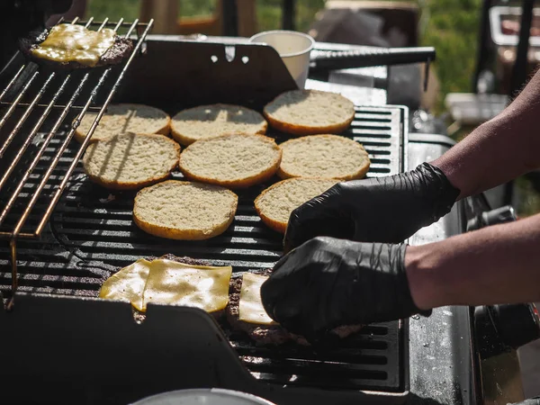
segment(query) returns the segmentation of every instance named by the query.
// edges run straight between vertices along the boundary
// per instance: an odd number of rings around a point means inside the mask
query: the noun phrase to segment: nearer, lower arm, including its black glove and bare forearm
[[[421,247],[314,238],[275,266],[265,309],[308,338],[443,305],[540,300],[540,214]]]

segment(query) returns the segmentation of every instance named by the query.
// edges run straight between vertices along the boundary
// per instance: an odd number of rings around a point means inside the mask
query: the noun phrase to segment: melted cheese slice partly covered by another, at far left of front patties
[[[135,308],[142,308],[142,293],[147,283],[152,262],[139,259],[109,277],[99,291],[99,297],[107,300],[131,302]]]

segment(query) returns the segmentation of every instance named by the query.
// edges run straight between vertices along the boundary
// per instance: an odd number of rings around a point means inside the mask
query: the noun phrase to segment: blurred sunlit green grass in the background
[[[132,20],[139,15],[139,0],[89,0],[88,15],[96,18],[123,16]],[[216,0],[179,0],[185,16],[211,14]],[[307,31],[324,0],[297,0],[297,27]],[[437,49],[437,76],[441,83],[441,101],[450,92],[471,89],[477,47],[481,0],[416,0],[422,11],[420,38],[423,45]],[[282,0],[257,0],[259,30],[280,27]],[[439,103],[442,105],[441,103]]]

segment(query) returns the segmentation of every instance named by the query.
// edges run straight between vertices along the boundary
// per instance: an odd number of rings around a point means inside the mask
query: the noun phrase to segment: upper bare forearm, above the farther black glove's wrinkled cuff
[[[503,184],[540,166],[540,71],[504,112],[432,164],[461,190],[459,198]]]

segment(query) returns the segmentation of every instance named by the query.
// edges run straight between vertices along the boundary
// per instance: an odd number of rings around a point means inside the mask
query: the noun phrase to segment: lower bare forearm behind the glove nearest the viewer
[[[421,309],[540,301],[540,214],[408,247],[405,266]]]

